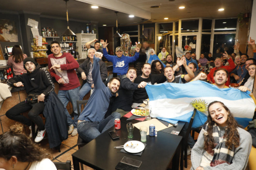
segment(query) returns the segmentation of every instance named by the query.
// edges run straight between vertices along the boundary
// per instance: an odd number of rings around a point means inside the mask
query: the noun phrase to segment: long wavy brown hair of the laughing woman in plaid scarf
[[[208,123],[208,129],[207,129],[208,134],[205,136],[204,149],[205,150],[213,150],[213,148],[215,148],[215,142],[214,142],[214,139],[212,136],[213,125],[215,124],[215,121],[213,121],[213,119],[211,118],[210,111],[209,111],[209,108],[211,107],[211,105],[213,105],[215,103],[220,103],[222,105],[222,107],[228,112],[228,120],[227,120],[228,126],[225,129],[225,133],[224,133],[224,137],[227,140],[226,147],[228,147],[228,148],[232,148],[233,146],[235,148],[239,147],[240,136],[239,136],[239,132],[237,131],[237,127],[241,127],[241,126],[239,126],[239,124],[237,124],[237,121],[234,119],[234,116],[232,115],[232,113],[230,113],[228,107],[226,107],[224,105],[224,103],[214,101],[208,105],[208,117],[207,117],[207,122],[205,123],[205,124]]]

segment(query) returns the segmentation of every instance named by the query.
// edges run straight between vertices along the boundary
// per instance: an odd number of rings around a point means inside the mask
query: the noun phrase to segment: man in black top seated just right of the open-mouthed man
[[[140,84],[145,81],[148,84],[164,83],[166,77],[164,74],[160,75],[150,75],[151,65],[150,63],[145,63],[142,67],[142,76],[135,78],[134,83]],[[138,107],[142,104],[143,100],[148,99],[148,94],[145,88],[140,88],[134,91],[134,103],[132,103],[132,108]]]

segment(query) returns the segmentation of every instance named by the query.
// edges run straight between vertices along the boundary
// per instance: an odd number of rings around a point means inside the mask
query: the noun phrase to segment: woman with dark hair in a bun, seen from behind
[[[50,155],[22,134],[23,126],[15,124],[0,135],[0,168],[6,170],[56,170]]]

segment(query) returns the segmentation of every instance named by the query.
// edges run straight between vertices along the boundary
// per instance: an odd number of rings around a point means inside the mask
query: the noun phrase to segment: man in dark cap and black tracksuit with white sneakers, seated
[[[26,102],[26,100],[20,102],[8,110],[6,116],[9,119],[30,126],[30,130],[32,129],[31,121],[33,121],[33,123],[38,126],[39,130],[35,142],[40,142],[43,137],[45,137],[46,129],[43,119],[39,114],[42,113],[45,108],[44,101],[46,97],[54,91],[54,84],[48,71],[41,68],[31,57],[27,57],[23,60],[23,67],[27,70],[27,73],[9,79],[7,84],[12,87],[24,87],[27,94],[33,96],[35,100],[33,100],[33,102]],[[20,115],[25,111],[28,111],[28,118]],[[30,137],[32,137],[32,132],[30,133]]]

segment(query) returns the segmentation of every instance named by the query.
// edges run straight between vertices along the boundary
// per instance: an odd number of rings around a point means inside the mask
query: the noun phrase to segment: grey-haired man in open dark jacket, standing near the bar
[[[77,68],[77,72],[79,72],[82,76],[82,79],[86,82],[83,83],[82,88],[79,91],[79,100],[83,100],[83,97],[94,88],[94,83],[92,79],[92,68],[93,68],[93,56],[95,55],[95,49],[88,49],[88,58],[85,59],[83,63],[79,65]],[[100,76],[101,80],[105,82],[108,77],[108,70],[106,68],[105,62],[100,60]]]

